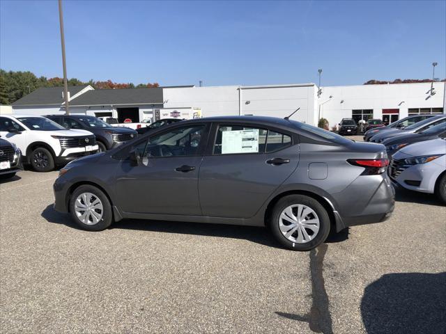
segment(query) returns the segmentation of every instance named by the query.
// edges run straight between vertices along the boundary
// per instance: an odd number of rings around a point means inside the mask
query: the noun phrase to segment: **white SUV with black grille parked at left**
[[[0,136],[15,143],[24,163],[38,172],[98,152],[95,136],[85,130],[67,130],[42,116],[2,115]]]

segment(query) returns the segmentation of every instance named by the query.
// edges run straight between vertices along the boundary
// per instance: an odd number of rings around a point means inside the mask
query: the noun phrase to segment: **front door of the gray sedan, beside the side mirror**
[[[198,175],[208,127],[194,123],[137,142],[140,164],[123,159],[116,174],[119,207],[124,212],[201,216]]]

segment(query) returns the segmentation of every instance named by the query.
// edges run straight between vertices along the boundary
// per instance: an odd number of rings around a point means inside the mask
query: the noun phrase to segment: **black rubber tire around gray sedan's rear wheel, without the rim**
[[[279,228],[279,217],[282,214],[282,211],[291,205],[305,205],[312,209],[319,219],[319,230],[314,239],[307,241],[305,243],[299,244],[297,242],[290,241],[287,239],[284,234],[282,234]],[[279,241],[282,246],[291,250],[312,250],[316,248],[320,244],[327,239],[328,234],[330,233],[330,217],[328,216],[327,211],[321,205],[320,202],[305,195],[289,195],[281,198],[272,209],[272,215],[270,217],[269,227],[274,235],[274,237]],[[307,231],[307,230],[306,230]],[[307,231],[309,232],[309,231]]]

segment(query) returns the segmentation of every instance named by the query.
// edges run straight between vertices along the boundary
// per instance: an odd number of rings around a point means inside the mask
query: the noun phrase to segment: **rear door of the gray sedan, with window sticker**
[[[297,136],[237,123],[214,128],[200,167],[203,216],[252,217],[298,166]]]

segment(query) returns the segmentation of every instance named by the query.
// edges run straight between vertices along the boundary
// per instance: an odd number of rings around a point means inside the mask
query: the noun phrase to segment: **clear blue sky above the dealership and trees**
[[[63,1],[68,77],[261,85],[446,77],[446,1]],[[61,77],[56,1],[0,0],[0,67]]]

